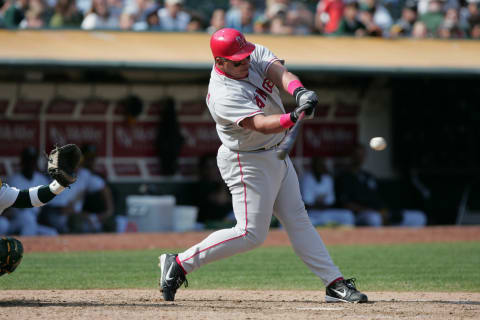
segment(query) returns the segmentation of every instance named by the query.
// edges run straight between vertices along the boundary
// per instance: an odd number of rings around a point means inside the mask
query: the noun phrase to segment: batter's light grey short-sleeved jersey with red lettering
[[[239,123],[257,114],[285,113],[280,92],[267,79],[268,68],[279,59],[267,48],[256,44],[250,55],[248,77],[231,79],[215,66],[208,86],[207,106],[217,123],[223,145],[235,151],[253,151],[277,145],[285,133],[263,134],[245,130]]]

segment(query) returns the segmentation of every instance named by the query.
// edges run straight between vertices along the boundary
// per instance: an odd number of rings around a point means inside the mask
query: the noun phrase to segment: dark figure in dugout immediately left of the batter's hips
[[[228,219],[233,215],[232,198],[218,170],[215,154],[203,155],[198,161],[197,172],[197,221],[207,229],[216,228],[219,224],[233,226],[234,219]]]

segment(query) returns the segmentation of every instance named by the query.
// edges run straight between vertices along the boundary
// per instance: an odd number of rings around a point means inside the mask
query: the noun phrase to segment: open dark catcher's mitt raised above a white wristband
[[[64,187],[77,180],[76,169],[82,158],[82,151],[75,144],[55,147],[48,156],[48,174]]]

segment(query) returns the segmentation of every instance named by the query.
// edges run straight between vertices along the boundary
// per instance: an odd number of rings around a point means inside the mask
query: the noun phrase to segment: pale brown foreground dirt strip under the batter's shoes
[[[326,303],[320,291],[8,290],[0,319],[478,319],[480,293],[367,292],[366,304]]]

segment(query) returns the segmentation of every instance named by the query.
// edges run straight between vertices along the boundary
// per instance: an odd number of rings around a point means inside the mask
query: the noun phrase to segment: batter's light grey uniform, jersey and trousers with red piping
[[[257,114],[285,112],[279,90],[266,76],[268,68],[279,59],[267,48],[255,46],[248,77],[231,79],[214,66],[207,95],[207,105],[222,141],[217,164],[232,194],[237,224],[216,231],[179,253],[177,261],[190,273],[212,261],[260,246],[274,214],[297,255],[327,285],[342,274],[308,218],[290,158],[276,157],[274,146],[285,132],[263,134],[239,125]],[[261,148],[264,150],[258,151]]]

